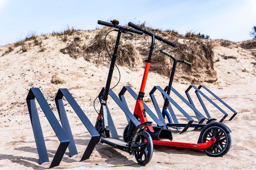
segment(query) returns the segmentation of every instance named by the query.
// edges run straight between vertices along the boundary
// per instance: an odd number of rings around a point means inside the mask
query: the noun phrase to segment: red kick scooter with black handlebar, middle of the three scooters
[[[176,44],[171,41],[168,41],[154,33],[151,33],[150,31],[148,31],[146,29],[142,29],[139,26],[137,26],[131,22],[129,22],[128,25],[130,27],[132,27],[136,30],[142,31],[144,34],[147,34],[152,37],[149,57],[148,57],[148,60],[146,60],[146,67],[144,70],[143,79],[142,79],[142,83],[140,86],[140,90],[138,93],[138,98],[137,98],[135,110],[134,110],[134,115],[138,118],[140,123],[144,123],[144,122],[148,122],[147,117],[146,117],[146,112],[145,112],[145,109],[143,106],[143,97],[145,94],[144,89],[145,89],[147,76],[148,76],[148,72],[149,72],[149,68],[150,68],[151,56],[152,56],[153,49],[154,49],[155,38],[172,46],[172,47],[175,47]],[[178,60],[177,62],[188,63],[184,60]],[[132,128],[131,128],[131,126],[132,126]],[[123,140],[125,142],[131,140],[130,136],[132,136],[134,133],[133,131],[131,131],[131,129],[135,129],[135,128],[136,128],[136,126],[134,125],[134,123],[132,121],[129,121],[129,124],[125,127],[124,134],[123,134]],[[214,156],[214,157],[222,156],[222,155],[226,154],[231,147],[231,137],[229,134],[229,132],[231,132],[231,130],[226,125],[219,123],[219,122],[211,122],[211,123],[207,124],[202,129],[202,131],[200,133],[198,143],[174,142],[174,141],[172,141],[173,137],[172,137],[171,130],[163,129],[162,127],[148,125],[148,126],[145,126],[145,128],[142,130],[146,131],[150,134],[150,136],[153,139],[154,145],[205,150],[205,152],[209,156]],[[220,135],[220,133],[224,133],[224,134]],[[229,136],[229,137],[225,137],[225,136]],[[224,144],[222,145],[219,142],[217,142],[219,140],[222,140],[223,137],[225,139],[221,142],[222,142],[222,144],[224,143],[225,145]],[[204,138],[205,140],[202,140],[202,138]],[[168,139],[169,141],[162,140],[162,139]],[[202,141],[204,141],[204,143]],[[209,148],[211,149],[211,151],[214,151],[214,152],[208,152]]]

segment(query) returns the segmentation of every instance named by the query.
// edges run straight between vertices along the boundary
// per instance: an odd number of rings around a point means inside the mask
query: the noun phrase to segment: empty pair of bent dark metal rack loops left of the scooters
[[[54,116],[52,109],[50,108],[49,104],[45,100],[40,89],[39,88],[30,88],[26,101],[27,101],[29,116],[31,119],[32,129],[34,132],[34,137],[35,137],[35,141],[36,141],[36,145],[37,145],[40,164],[42,164],[44,162],[49,162],[49,158],[47,155],[44,137],[42,134],[42,128],[41,128],[40,121],[39,121],[39,116],[38,116],[35,99],[37,99],[43,113],[45,114],[47,120],[49,121],[52,129],[54,130],[56,136],[58,137],[58,139],[60,141],[58,150],[55,153],[55,156],[54,156],[49,168],[53,168],[53,167],[59,165],[67,147],[68,147],[68,150],[70,153],[70,157],[78,154],[76,144],[75,144],[75,141],[74,141],[74,138],[73,138],[73,135],[71,132],[71,128],[70,128],[70,125],[69,125],[69,122],[67,119],[67,115],[65,112],[64,104],[62,101],[63,97],[65,97],[67,102],[69,102],[71,107],[74,109],[75,113],[78,115],[79,119],[82,121],[83,125],[86,127],[86,129],[92,136],[80,161],[86,160],[90,157],[95,145],[99,141],[98,132],[96,131],[96,129],[94,128],[94,126],[92,125],[90,120],[87,118],[87,116],[84,114],[84,112],[81,110],[78,103],[72,97],[72,95],[70,94],[68,89],[60,88],[55,97],[55,102],[57,105],[57,109],[59,112],[59,118],[60,118],[61,125],[62,125],[62,127],[61,127],[58,119]]]

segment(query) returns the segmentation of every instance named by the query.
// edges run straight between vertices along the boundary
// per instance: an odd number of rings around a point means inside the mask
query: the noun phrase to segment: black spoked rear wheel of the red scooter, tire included
[[[225,126],[222,123],[209,123],[207,127],[202,129],[198,142],[208,142],[211,137],[215,137],[216,142],[204,150],[207,155],[218,157],[229,152],[232,145],[232,139],[230,132],[225,129]]]

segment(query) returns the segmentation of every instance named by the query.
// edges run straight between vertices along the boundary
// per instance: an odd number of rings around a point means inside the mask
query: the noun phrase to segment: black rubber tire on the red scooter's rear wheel
[[[205,153],[208,156],[219,157],[219,156],[223,156],[223,155],[225,155],[226,153],[229,152],[229,150],[230,150],[230,148],[232,146],[232,138],[231,138],[230,132],[227,131],[224,126],[225,125],[223,123],[220,123],[220,122],[211,122],[211,123],[207,124],[207,126],[202,129],[200,137],[198,139],[198,143],[203,143],[204,142],[202,136],[204,136],[204,133],[207,130],[209,130],[209,129],[213,128],[213,127],[220,128],[225,133],[225,136],[227,138],[227,144],[226,144],[226,146],[225,146],[225,148],[224,148],[224,150],[222,152],[217,153],[217,154],[213,154],[213,153],[208,152],[207,149],[205,149],[204,151],[205,151]]]

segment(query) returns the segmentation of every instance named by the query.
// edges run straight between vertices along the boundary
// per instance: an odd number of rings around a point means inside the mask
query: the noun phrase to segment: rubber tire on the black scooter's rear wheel
[[[141,161],[140,159],[138,159],[136,157],[136,153],[135,153],[135,158],[138,162],[139,165],[146,165],[150,162],[151,158],[152,158],[152,155],[153,155],[153,150],[154,150],[154,146],[153,146],[153,141],[152,141],[152,138],[151,136],[149,135],[148,132],[145,132],[145,131],[142,131],[142,132],[139,132],[138,133],[138,136],[136,137],[136,140],[138,139],[139,136],[144,136],[147,140],[147,144],[148,144],[148,147],[147,147],[147,150],[148,150],[148,155],[147,157],[145,157],[145,159],[143,161]]]

